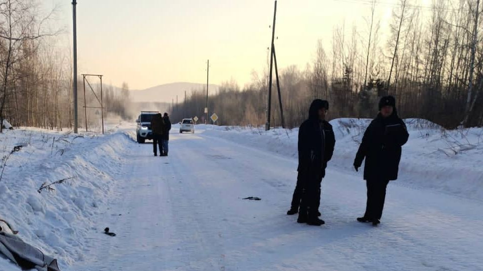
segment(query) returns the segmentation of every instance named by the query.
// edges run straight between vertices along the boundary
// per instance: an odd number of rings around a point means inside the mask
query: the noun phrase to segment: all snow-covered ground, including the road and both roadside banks
[[[6,131],[2,155],[23,147],[6,161],[0,218],[62,270],[482,270],[482,129],[407,122],[400,179],[376,228],[355,222],[365,184],[352,160],[367,120],[350,119],[332,122],[322,227],[285,215],[297,129],[214,126],[174,127],[169,157],[135,143],[132,125],[105,136]],[[0,257],[0,270],[17,269]]]

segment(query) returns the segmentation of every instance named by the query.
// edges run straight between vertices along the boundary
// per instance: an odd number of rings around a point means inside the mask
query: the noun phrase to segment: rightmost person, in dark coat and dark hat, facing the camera
[[[401,146],[408,137],[406,125],[397,115],[396,100],[392,96],[382,97],[379,114],[365,130],[354,160],[354,168],[359,171],[365,158],[367,203],[364,216],[357,218],[359,222],[380,223],[386,187],[389,181],[397,179]]]

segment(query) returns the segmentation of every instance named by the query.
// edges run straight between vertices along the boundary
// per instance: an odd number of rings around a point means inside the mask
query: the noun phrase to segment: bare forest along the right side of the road
[[[400,0],[385,40],[374,15],[377,1],[366,2],[367,12],[361,16],[367,25],[350,31],[336,27],[330,51],[319,41],[316,57],[306,67],[279,71],[285,125],[298,127],[314,98],[329,100],[331,119],[372,118],[379,97],[389,94],[396,97],[403,118],[428,119],[450,129],[482,127],[480,0],[437,0],[431,7]],[[281,126],[275,74],[272,83],[271,124]],[[263,125],[267,89],[268,67],[243,88],[225,82],[209,97],[210,115],[216,112],[221,125]],[[205,91],[194,92],[186,103],[175,106],[173,119],[205,116]]]

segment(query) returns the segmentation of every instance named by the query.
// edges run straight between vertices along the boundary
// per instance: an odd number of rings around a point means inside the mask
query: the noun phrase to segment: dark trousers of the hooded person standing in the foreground
[[[299,215],[307,212],[309,217],[317,217],[320,206],[320,185],[322,174],[309,172],[302,174],[303,192],[300,200]]]

